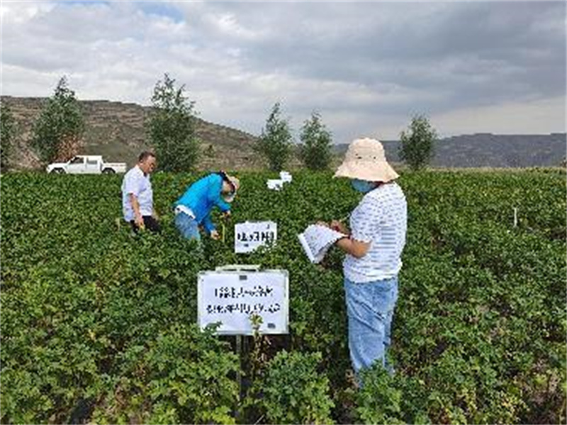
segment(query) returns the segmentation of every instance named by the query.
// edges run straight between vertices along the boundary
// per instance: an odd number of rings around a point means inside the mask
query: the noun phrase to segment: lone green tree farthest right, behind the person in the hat
[[[425,167],[434,156],[437,132],[425,116],[412,118],[408,131],[400,133],[400,159],[412,170]]]

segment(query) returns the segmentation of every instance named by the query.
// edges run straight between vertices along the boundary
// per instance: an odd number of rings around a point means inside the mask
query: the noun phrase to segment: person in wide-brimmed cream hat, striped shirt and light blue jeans
[[[393,373],[386,352],[408,224],[405,195],[378,140],[354,140],[335,177],[348,177],[364,193],[350,215],[350,231],[338,221],[330,224],[348,235],[336,245],[347,253],[343,270],[352,365],[357,375],[375,362]]]

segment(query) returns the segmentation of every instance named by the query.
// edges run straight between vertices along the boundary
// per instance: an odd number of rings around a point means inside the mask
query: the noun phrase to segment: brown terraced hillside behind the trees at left
[[[47,99],[1,96],[1,102],[10,107],[18,125],[16,168],[38,167],[38,158],[29,148],[33,123]],[[151,106],[116,101],[79,101],[86,129],[81,153],[103,155],[111,162],[127,162],[133,166],[137,155],[149,148],[144,121]],[[261,163],[252,150],[256,136],[196,118],[196,133],[201,140],[200,169],[233,170],[241,167],[259,167]],[[210,148],[212,147],[212,148]]]

